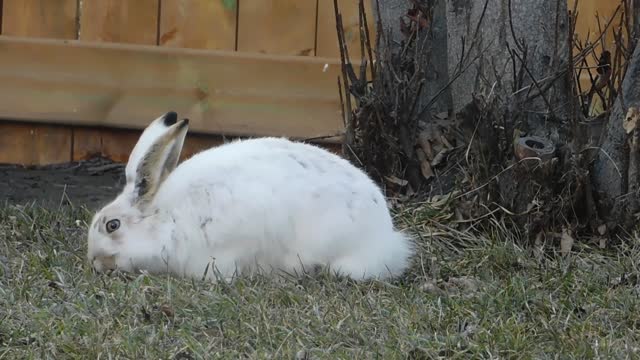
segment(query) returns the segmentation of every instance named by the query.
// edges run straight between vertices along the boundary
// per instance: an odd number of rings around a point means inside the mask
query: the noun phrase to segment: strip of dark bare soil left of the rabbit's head
[[[0,202],[97,209],[125,183],[124,164],[96,158],[38,167],[0,165]]]

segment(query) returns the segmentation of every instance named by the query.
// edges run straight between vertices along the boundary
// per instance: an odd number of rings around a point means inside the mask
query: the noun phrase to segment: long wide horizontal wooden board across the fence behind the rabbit
[[[337,61],[6,36],[0,53],[0,118],[141,129],[174,110],[211,134],[343,127]]]

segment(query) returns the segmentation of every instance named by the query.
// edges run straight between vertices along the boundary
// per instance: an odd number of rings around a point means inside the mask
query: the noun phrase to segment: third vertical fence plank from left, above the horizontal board
[[[160,45],[235,50],[237,0],[164,0]]]

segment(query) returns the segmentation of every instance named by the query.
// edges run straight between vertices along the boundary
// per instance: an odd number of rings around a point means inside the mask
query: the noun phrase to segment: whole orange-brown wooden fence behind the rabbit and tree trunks
[[[339,3],[359,56],[357,0]],[[581,0],[580,8],[588,17],[611,3]],[[219,135],[342,130],[333,0],[0,5],[0,162],[125,161],[140,129],[167,110],[201,134],[188,137],[185,156]]]

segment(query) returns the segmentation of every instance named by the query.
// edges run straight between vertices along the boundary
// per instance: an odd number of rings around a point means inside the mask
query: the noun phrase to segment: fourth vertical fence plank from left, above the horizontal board
[[[316,0],[240,1],[238,51],[313,56]]]

